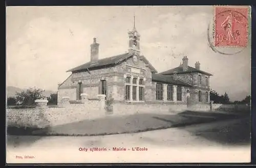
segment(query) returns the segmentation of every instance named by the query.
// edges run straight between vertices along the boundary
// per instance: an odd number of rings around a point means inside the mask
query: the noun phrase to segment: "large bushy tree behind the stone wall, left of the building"
[[[22,105],[32,105],[36,99],[42,98],[44,90],[37,88],[29,88],[21,92],[16,93],[16,99],[22,102]]]

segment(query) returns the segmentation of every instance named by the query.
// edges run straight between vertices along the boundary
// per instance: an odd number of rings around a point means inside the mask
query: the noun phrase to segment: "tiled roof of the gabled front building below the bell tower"
[[[97,60],[96,62],[88,62],[86,64],[80,65],[78,67],[72,68],[70,70],[68,70],[67,72],[73,72],[73,71],[78,71],[78,70],[83,70],[83,69],[90,69],[90,68],[104,68],[104,66],[107,65],[116,65],[119,64],[120,62],[122,62],[125,59],[128,59],[130,57],[132,57],[133,54],[131,53],[123,53],[120,55],[116,55],[114,57],[109,57],[109,58],[104,58],[104,59],[100,59]],[[148,65],[148,67],[152,70],[152,72],[157,72],[157,70],[150,64],[150,62],[148,62],[146,60],[146,58],[144,56],[140,56],[140,59],[143,60],[145,62],[145,64]]]

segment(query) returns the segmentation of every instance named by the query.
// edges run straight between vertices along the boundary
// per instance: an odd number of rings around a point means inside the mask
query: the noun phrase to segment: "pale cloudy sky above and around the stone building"
[[[57,91],[71,72],[90,61],[90,44],[97,38],[99,58],[128,50],[128,32],[135,27],[141,54],[162,72],[197,61],[213,74],[211,89],[225,92],[231,101],[251,90],[251,48],[225,55],[208,45],[211,6],[38,6],[7,7],[6,85]]]

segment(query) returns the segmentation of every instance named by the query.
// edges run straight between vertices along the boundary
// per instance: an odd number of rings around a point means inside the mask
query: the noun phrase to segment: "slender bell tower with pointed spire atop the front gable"
[[[129,52],[139,55],[140,52],[140,34],[135,28],[135,16],[133,30],[128,32],[129,35]]]

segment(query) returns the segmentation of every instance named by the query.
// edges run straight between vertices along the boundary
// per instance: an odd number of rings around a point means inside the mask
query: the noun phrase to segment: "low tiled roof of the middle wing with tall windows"
[[[170,84],[179,85],[179,86],[186,86],[186,87],[191,87],[192,86],[189,83],[186,83],[185,81],[182,81],[180,79],[175,80],[173,78],[173,76],[161,75],[159,73],[152,73],[152,81],[170,83]]]

